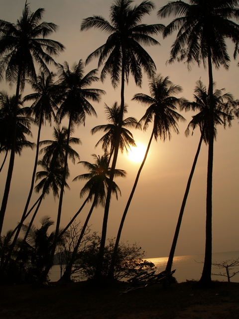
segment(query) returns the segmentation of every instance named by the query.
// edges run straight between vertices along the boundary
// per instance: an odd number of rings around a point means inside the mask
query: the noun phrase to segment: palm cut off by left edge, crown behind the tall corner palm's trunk
[[[0,153],[5,152],[5,157],[0,167],[0,171],[6,160],[8,151],[11,150],[11,128],[13,121],[13,109],[15,96],[8,96],[5,92],[0,92]],[[34,143],[26,140],[25,135],[31,136],[30,126],[33,119],[27,116],[28,108],[22,108],[21,96],[18,97],[16,114],[16,142],[15,154],[21,155],[23,148],[33,149]]]

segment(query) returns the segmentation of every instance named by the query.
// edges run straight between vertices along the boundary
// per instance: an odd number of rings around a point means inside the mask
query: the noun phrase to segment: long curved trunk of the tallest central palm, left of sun
[[[122,121],[123,121],[123,108],[124,108],[124,67],[125,67],[124,57],[122,56],[121,92],[120,92],[121,104],[120,104],[120,112],[119,112],[119,128],[118,128],[118,133],[117,133],[117,138],[116,138],[116,146],[115,146],[115,150],[114,150],[114,157],[113,157],[113,161],[112,161],[111,173],[110,173],[110,179],[109,179],[109,185],[108,185],[108,192],[107,192],[107,197],[106,197],[106,205],[105,205],[105,212],[104,212],[103,226],[102,226],[101,244],[100,244],[100,249],[99,249],[99,258],[98,258],[98,264],[97,264],[96,272],[95,272],[95,279],[96,280],[100,279],[102,276],[102,267],[103,267],[104,251],[105,251],[105,244],[106,244],[106,234],[107,234],[107,223],[108,223],[110,201],[111,201],[111,192],[112,192],[113,179],[114,179],[115,168],[116,168],[118,152],[119,152],[119,141],[120,141]]]

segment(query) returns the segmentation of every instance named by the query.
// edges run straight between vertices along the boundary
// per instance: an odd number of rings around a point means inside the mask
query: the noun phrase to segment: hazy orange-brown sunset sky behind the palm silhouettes
[[[65,51],[55,58],[56,62],[67,61],[69,65],[74,62],[83,61],[95,49],[105,43],[107,34],[100,30],[80,31],[82,20],[93,14],[102,15],[109,20],[110,6],[112,0],[32,0],[30,2],[31,11],[39,7],[45,8],[43,20],[53,22],[59,26],[56,33],[51,38],[60,41],[66,47]],[[138,4],[141,1],[134,1]],[[9,22],[16,22],[21,16],[25,0],[0,0],[0,19]],[[143,23],[167,24],[171,19],[157,18],[157,11],[167,1],[154,1],[156,9],[150,16],[146,16]],[[201,79],[208,86],[207,70],[201,66],[192,66],[188,70],[184,63],[175,62],[166,64],[169,59],[170,47],[175,40],[176,33],[163,39],[161,35],[155,38],[160,42],[160,46],[145,47],[153,58],[157,73],[162,76],[169,76],[175,85],[181,85],[183,92],[178,97],[188,100],[193,99],[195,83]],[[214,69],[214,81],[216,88],[225,88],[225,92],[230,92],[235,99],[239,98],[239,59],[233,59],[233,45],[228,42],[229,53],[231,55],[230,69]],[[86,67],[86,72],[97,68],[98,61],[94,60]],[[51,68],[50,68],[51,69]],[[55,71],[54,69],[51,69]],[[101,70],[99,70],[101,71]],[[119,88],[114,90],[109,77],[104,83],[94,83],[95,88],[104,89],[107,94],[102,97],[100,103],[93,103],[98,114],[97,118],[87,117],[85,126],[75,128],[74,137],[82,141],[81,146],[74,149],[79,153],[80,160],[92,162],[92,154],[103,155],[101,146],[95,148],[96,143],[102,137],[102,133],[94,136],[90,131],[97,125],[107,123],[105,115],[105,104],[112,106],[116,101],[120,102]],[[0,90],[6,90],[10,95],[15,93],[3,82],[0,83]],[[31,89],[26,87],[22,95],[31,93]],[[127,116],[133,116],[137,120],[144,115],[146,108],[137,102],[131,101],[136,93],[149,94],[148,79],[143,77],[142,87],[136,87],[133,79],[129,79],[129,85],[125,87],[125,103],[128,105]],[[30,106],[30,104],[25,104]],[[179,123],[179,132],[172,132],[170,141],[165,142],[160,139],[152,142],[148,158],[141,172],[136,191],[126,216],[121,240],[126,243],[136,243],[145,251],[145,257],[165,257],[168,256],[173,235],[181,207],[185,187],[191,166],[198,147],[200,132],[195,130],[193,136],[185,137],[184,132],[194,113],[180,112],[185,119],[185,123]],[[63,123],[67,125],[67,121]],[[53,127],[48,125],[43,127],[41,140],[51,140]],[[134,140],[143,144],[148,144],[152,127],[149,126],[146,132],[132,130]],[[32,127],[32,141],[36,142],[37,128]],[[214,172],[213,172],[213,252],[226,252],[239,250],[239,120],[235,119],[231,128],[226,130],[218,127],[217,142],[214,148]],[[185,212],[182,220],[178,244],[175,251],[176,256],[204,254],[205,250],[205,222],[206,222],[206,176],[207,176],[207,146],[203,145],[198,163],[193,176],[190,193],[188,196]],[[34,165],[34,151],[24,150],[22,156],[15,157],[15,164],[8,197],[7,210],[3,225],[3,233],[16,226],[20,220],[24,205],[27,199],[32,169]],[[3,155],[0,155],[0,162]],[[117,236],[121,216],[130,194],[138,167],[140,163],[135,163],[125,155],[119,155],[117,168],[127,172],[126,178],[117,178],[115,181],[121,190],[119,200],[112,199],[108,221],[108,238]],[[65,191],[63,198],[63,210],[61,225],[64,227],[81,206],[84,198],[80,198],[80,190],[84,182],[72,182],[72,179],[86,170],[81,164],[69,164],[70,177],[68,183],[70,190]],[[4,191],[7,165],[0,173],[0,196]],[[37,194],[32,196],[31,203],[38,198]],[[79,215],[79,219],[84,222],[89,212],[89,203],[84,211]],[[58,200],[54,201],[52,193],[44,199],[36,217],[35,224],[40,226],[39,220],[44,215],[49,215],[56,221]],[[91,229],[101,233],[103,222],[103,208],[97,208],[93,212],[90,220]],[[78,219],[78,220],[79,220]],[[53,229],[52,229],[53,230]]]

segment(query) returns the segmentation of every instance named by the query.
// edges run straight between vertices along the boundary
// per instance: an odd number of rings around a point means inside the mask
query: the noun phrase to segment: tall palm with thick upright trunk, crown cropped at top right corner
[[[179,29],[171,49],[171,61],[186,59],[188,65],[203,61],[209,73],[210,131],[208,148],[208,174],[206,199],[206,245],[205,260],[200,284],[211,284],[212,269],[212,180],[214,144],[214,104],[213,104],[213,65],[229,68],[227,39],[236,43],[238,50],[239,25],[231,20],[239,18],[238,0],[189,0],[173,1],[164,5],[159,17],[176,17],[164,30],[164,37]],[[237,52],[235,52],[236,55]]]

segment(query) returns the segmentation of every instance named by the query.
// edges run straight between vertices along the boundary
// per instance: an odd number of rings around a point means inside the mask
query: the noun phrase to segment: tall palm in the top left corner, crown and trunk
[[[19,92],[24,88],[26,77],[36,78],[36,64],[46,70],[46,64],[55,64],[52,55],[58,55],[58,52],[64,49],[61,43],[45,38],[56,31],[57,26],[54,23],[40,23],[43,13],[43,8],[31,12],[28,4],[25,3],[22,16],[17,20],[16,24],[0,20],[0,77],[3,77],[3,73],[5,73],[7,81],[16,82],[16,104],[13,110],[11,134],[12,148],[0,210],[0,233],[14,165]]]

